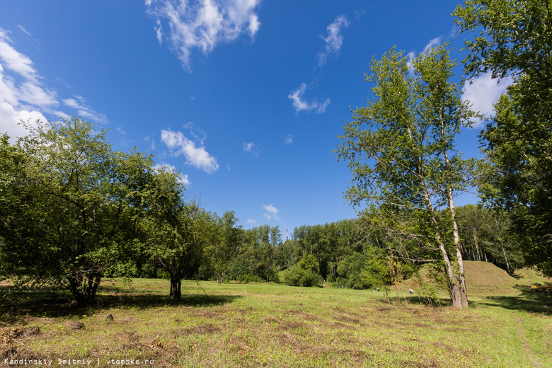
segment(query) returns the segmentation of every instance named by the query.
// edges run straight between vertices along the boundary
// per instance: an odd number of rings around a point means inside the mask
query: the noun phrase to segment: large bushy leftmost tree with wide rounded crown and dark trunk
[[[4,275],[64,287],[90,304],[103,277],[134,272],[129,255],[138,253],[135,224],[153,163],[112,151],[105,130],[76,116],[28,129],[17,146],[2,144],[18,171],[8,187],[20,191],[0,209],[13,211],[0,234]]]

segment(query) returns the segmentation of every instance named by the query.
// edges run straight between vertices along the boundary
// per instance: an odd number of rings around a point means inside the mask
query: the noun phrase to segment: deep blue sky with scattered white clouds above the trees
[[[455,1],[6,0],[0,12],[0,132],[76,113],[114,149],[180,171],[186,196],[248,229],[291,233],[355,217],[351,175],[333,149],[350,108],[371,98],[364,72],[396,46],[449,41]],[[462,55],[457,53],[461,61]],[[462,69],[458,69],[460,81]],[[490,114],[504,85],[466,98]],[[459,148],[479,156],[478,129]],[[473,195],[457,205],[476,202]]]

